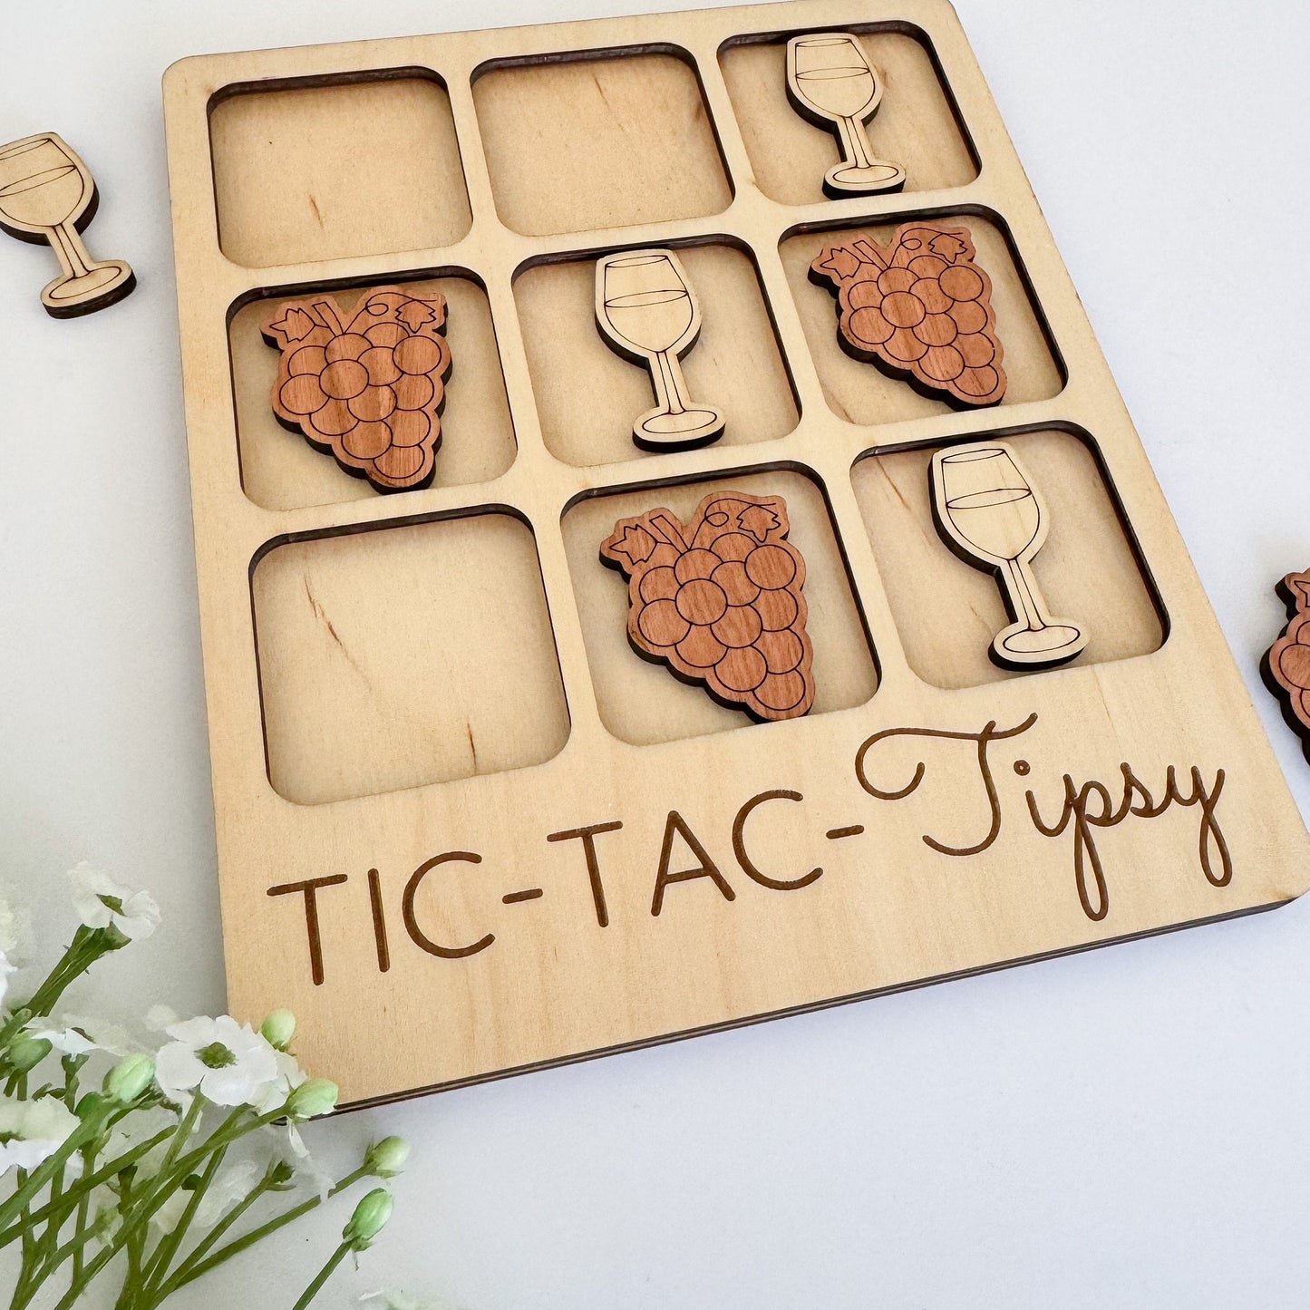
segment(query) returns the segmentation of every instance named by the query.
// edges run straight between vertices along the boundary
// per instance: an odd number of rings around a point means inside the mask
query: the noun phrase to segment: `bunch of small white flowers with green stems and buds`
[[[121,1280],[115,1310],[155,1310],[355,1183],[400,1172],[409,1146],[397,1137],[371,1144],[342,1178],[324,1180],[312,1165],[299,1125],[331,1114],[338,1089],[300,1068],[286,1010],[258,1030],[231,1015],[168,1022],[155,1049],[124,1049],[128,1039],[88,1020],[52,1022],[77,979],[160,922],[147,892],[85,865],[69,876],[81,925],[9,1006],[16,968],[0,933],[0,1250],[20,1250],[9,1310],[51,1286],[62,1289],[55,1310],[71,1310],[110,1277]],[[0,903],[0,927],[10,921]],[[90,1065],[106,1058],[97,1081]],[[310,1195],[275,1208],[296,1191]],[[359,1201],[296,1310],[372,1244],[390,1207],[381,1187]]]

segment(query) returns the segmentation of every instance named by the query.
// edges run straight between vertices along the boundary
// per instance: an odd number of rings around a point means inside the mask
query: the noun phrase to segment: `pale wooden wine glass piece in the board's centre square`
[[[723,435],[723,411],[690,398],[679,364],[701,334],[701,307],[672,250],[596,261],[596,329],[612,350],[650,369],[656,405],[633,422],[637,445],[689,451]]]

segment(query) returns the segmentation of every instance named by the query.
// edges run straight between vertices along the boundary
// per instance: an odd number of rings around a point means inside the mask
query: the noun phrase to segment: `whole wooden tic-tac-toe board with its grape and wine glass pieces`
[[[947,4],[165,102],[229,1000],[346,1100],[1306,888]]]

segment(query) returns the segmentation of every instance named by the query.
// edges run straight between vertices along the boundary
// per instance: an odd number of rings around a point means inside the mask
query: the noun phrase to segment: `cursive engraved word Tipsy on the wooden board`
[[[998,728],[993,720],[979,732],[947,732],[941,728],[887,728],[883,732],[875,732],[861,745],[855,755],[855,777],[871,796],[879,800],[901,800],[918,789],[927,772],[927,765],[920,760],[909,781],[901,787],[875,786],[869,778],[869,769],[870,756],[879,743],[891,738],[972,743],[977,778],[986,795],[990,816],[988,831],[979,841],[967,845],[948,845],[927,833],[924,833],[924,842],[943,855],[977,855],[992,846],[1001,834],[1001,798],[992,774],[989,748],[993,741],[1022,736],[1036,722],[1036,714],[1030,714],[1022,723],[1011,728]],[[1027,760],[1015,760],[1014,772],[1019,777],[1027,777],[1031,773],[1031,765]],[[1165,772],[1165,786],[1158,800],[1155,794],[1137,777],[1132,765],[1121,764],[1119,773],[1120,778],[1112,783],[1114,791],[1111,785],[1104,782],[1090,779],[1079,783],[1073,779],[1072,774],[1066,773],[1058,811],[1049,819],[1043,816],[1043,807],[1034,791],[1028,790],[1023,794],[1032,827],[1043,837],[1062,837],[1066,832],[1072,833],[1074,883],[1083,913],[1089,918],[1102,920],[1110,910],[1110,891],[1106,884],[1106,870],[1100,852],[1096,848],[1096,831],[1115,828],[1128,817],[1157,819],[1171,806],[1182,808],[1196,806],[1199,808],[1197,857],[1201,872],[1205,874],[1212,886],[1226,887],[1233,879],[1233,859],[1216,815],[1220,794],[1224,791],[1224,770],[1217,769],[1213,781],[1207,783],[1201,770],[1193,765],[1191,786],[1184,791],[1179,786],[1178,770],[1170,765]],[[1049,815],[1049,811],[1045,814]]]

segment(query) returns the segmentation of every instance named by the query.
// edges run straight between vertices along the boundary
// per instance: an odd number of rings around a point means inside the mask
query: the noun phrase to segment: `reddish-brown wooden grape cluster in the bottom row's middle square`
[[[707,495],[684,527],[669,510],[620,519],[601,562],[627,578],[627,639],[643,659],[756,719],[814,705],[806,562],[782,496]]]

